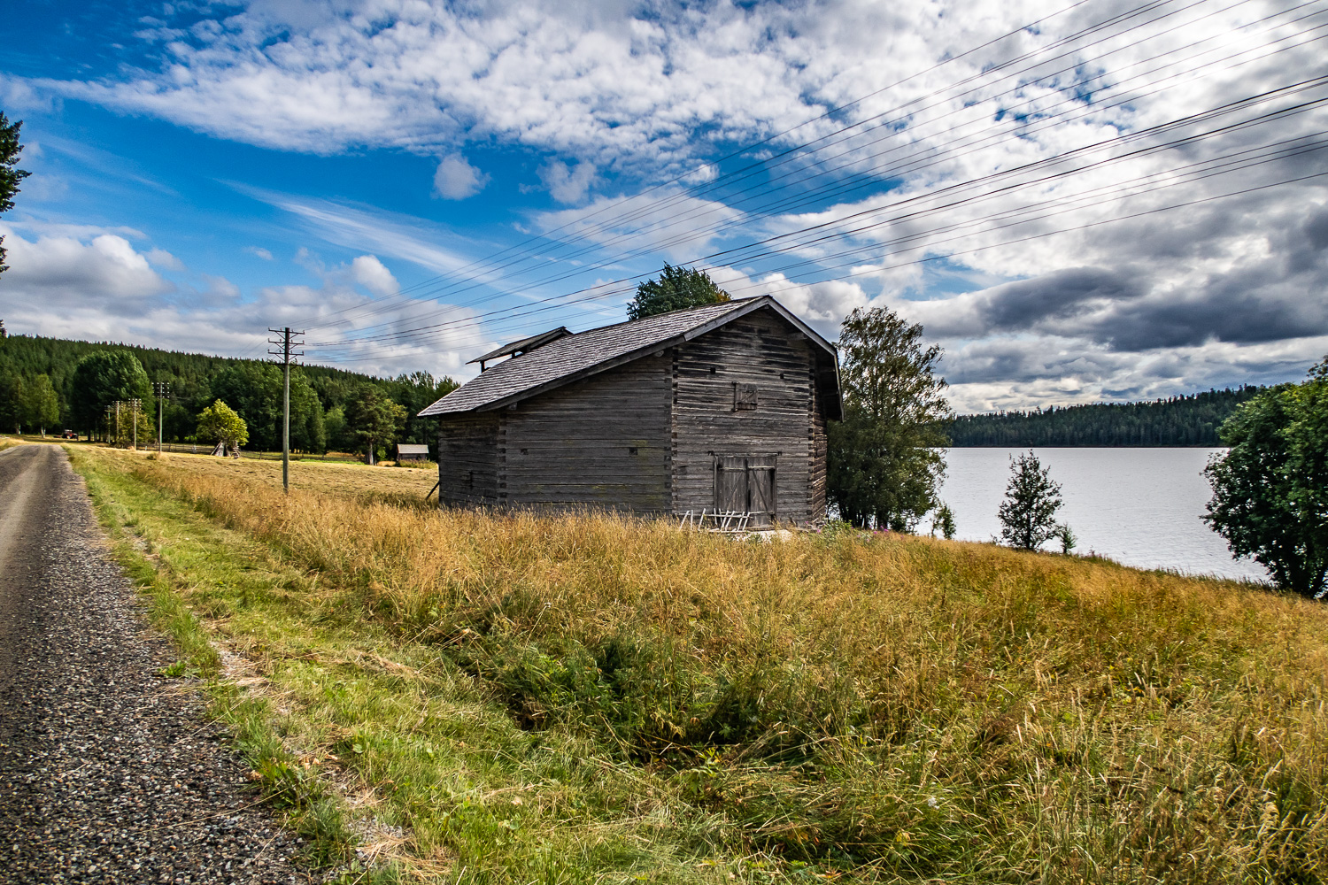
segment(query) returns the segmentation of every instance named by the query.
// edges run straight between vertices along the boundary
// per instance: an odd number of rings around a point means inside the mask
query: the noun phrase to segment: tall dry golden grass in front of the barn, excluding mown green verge
[[[332,474],[287,498],[234,464],[98,456],[274,545],[521,727],[652,779],[596,825],[664,815],[685,837],[661,856],[781,880],[1328,872],[1321,604],[984,544],[437,512]],[[416,475],[372,476],[392,474]],[[421,856],[481,851],[428,795],[402,817]]]

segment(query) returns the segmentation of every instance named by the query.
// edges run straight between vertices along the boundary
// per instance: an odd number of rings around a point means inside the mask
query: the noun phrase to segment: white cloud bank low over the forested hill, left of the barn
[[[141,251],[117,234],[80,232],[28,239],[0,224],[11,265],[0,287],[0,316],[11,332],[254,357],[267,348],[268,326],[290,325],[309,329],[311,361],[352,360],[356,369],[381,374],[469,374],[463,364],[487,337],[478,324],[466,324],[424,346],[390,340],[327,346],[367,324],[394,330],[413,321],[409,304],[381,310],[376,299],[394,295],[398,285],[372,255],[324,268],[307,253],[319,276],[315,285],[262,285],[246,295],[216,275],[171,283],[149,261],[157,249]],[[448,317],[463,316],[459,308],[440,306]],[[376,313],[357,314],[359,308]]]

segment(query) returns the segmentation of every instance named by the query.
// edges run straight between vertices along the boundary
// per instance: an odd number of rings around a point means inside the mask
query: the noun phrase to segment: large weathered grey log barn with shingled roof
[[[825,517],[838,360],[773,297],[559,328],[481,361],[420,413],[438,418],[442,506]]]

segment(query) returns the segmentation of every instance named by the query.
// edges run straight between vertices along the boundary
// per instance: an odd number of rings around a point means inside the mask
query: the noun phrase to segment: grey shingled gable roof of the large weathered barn
[[[742,301],[708,304],[660,313],[643,320],[563,336],[542,348],[505,360],[479,373],[446,397],[420,411],[421,417],[462,411],[489,411],[521,402],[552,387],[671,348],[732,322],[753,310],[770,308],[807,338],[834,356],[834,346],[769,295]]]

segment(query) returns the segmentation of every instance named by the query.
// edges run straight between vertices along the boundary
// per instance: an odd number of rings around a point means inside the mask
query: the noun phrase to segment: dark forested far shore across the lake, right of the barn
[[[952,446],[1220,446],[1218,429],[1263,387],[1242,385],[1151,402],[960,415]]]

